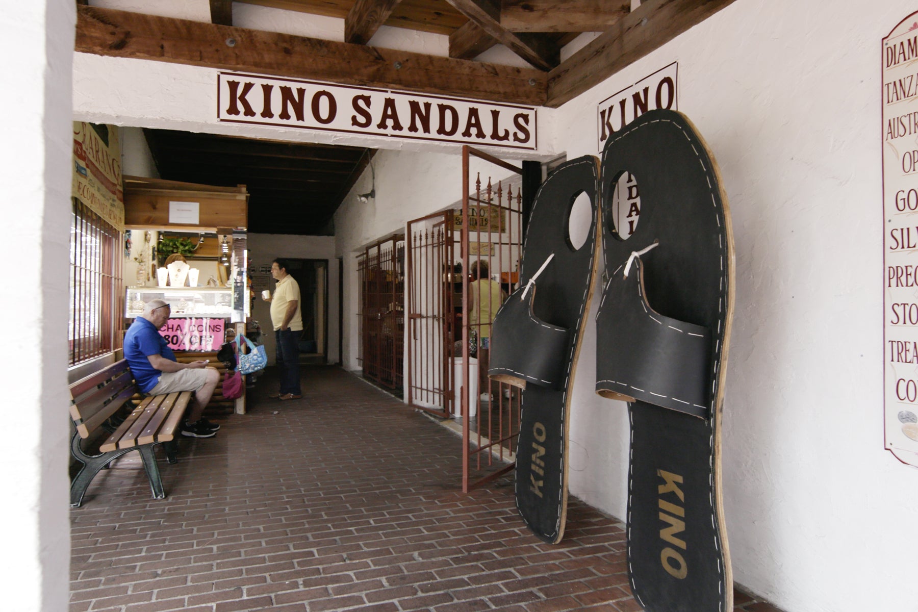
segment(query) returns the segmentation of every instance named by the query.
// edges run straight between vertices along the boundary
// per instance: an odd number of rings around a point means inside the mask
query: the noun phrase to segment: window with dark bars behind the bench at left
[[[121,233],[73,198],[70,226],[70,365],[121,347]]]

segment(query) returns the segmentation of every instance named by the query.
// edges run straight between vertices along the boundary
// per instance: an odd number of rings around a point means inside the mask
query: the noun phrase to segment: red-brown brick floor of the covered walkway
[[[251,390],[209,440],[100,473],[71,511],[71,612],[640,610],[621,523],[571,499],[565,540],[532,537],[512,481],[460,491],[459,439],[341,369],[301,400]],[[133,453],[132,453],[133,454]],[[737,592],[737,610],[777,608]]]

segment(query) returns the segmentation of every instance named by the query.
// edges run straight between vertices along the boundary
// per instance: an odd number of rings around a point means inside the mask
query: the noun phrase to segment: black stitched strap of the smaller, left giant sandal
[[[549,325],[532,316],[533,286],[513,292],[494,318],[491,337],[491,380],[526,388],[527,383],[560,389],[565,380],[568,329]]]

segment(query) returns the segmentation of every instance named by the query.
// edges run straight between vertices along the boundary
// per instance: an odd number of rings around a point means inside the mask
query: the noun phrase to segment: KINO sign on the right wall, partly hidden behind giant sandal
[[[674,61],[600,102],[596,106],[596,149],[601,151],[612,134],[648,110],[678,110],[678,72],[679,64]]]

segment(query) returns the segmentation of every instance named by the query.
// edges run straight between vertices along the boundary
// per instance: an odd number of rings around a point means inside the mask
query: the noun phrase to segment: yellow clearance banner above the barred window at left
[[[118,127],[73,122],[73,197],[124,231],[121,143]]]

